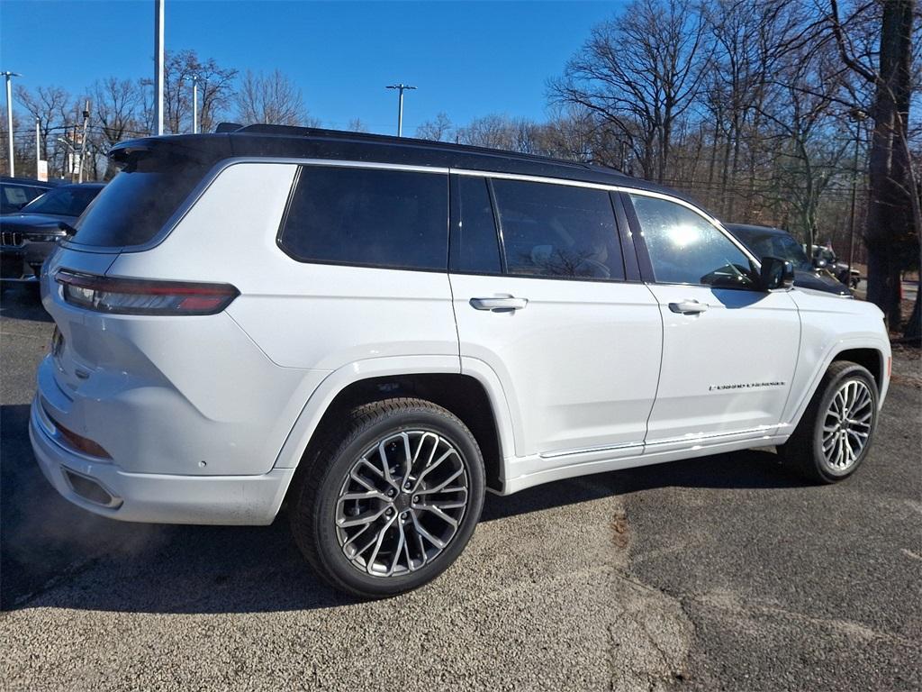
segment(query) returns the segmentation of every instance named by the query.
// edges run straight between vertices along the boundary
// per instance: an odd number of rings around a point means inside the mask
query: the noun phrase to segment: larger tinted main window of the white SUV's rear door
[[[506,271],[533,277],[624,279],[609,193],[494,180]]]

